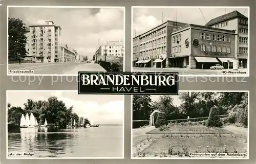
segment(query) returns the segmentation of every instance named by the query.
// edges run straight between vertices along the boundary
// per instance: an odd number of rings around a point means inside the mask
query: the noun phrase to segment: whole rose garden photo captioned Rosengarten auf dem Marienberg
[[[249,91],[132,99],[133,159],[249,158]]]

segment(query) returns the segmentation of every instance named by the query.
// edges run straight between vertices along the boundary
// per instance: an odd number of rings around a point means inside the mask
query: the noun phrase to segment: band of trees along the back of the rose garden
[[[228,114],[229,123],[247,126],[247,92],[181,92],[181,103],[174,104],[172,96],[160,96],[152,101],[150,95],[133,95],[133,120],[150,120],[150,114],[159,110],[165,120],[207,117],[214,107],[218,114]]]

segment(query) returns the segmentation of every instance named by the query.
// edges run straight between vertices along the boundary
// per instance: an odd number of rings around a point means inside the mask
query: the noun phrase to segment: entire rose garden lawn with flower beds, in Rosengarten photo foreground
[[[189,157],[189,153],[247,153],[247,135],[199,126],[158,128],[133,143],[133,157]],[[155,134],[155,135],[154,135]],[[159,135],[160,134],[160,135]],[[203,156],[202,156],[203,157]],[[240,156],[241,157],[241,156]]]

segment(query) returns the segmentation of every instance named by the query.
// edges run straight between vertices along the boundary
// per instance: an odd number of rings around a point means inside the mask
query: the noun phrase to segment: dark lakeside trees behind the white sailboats
[[[50,97],[47,101],[28,99],[24,106],[24,108],[11,106],[8,103],[8,122],[14,122],[19,125],[22,114],[33,113],[39,125],[43,125],[45,119],[49,126],[55,128],[66,128],[67,125],[73,125],[74,119],[76,125],[79,123],[83,123],[84,126],[86,124],[91,125],[87,118],[79,118],[77,113],[73,112],[73,106],[67,107],[63,101],[58,100],[56,97]]]

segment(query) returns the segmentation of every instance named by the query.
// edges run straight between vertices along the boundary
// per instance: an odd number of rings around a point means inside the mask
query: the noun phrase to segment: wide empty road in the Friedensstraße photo
[[[78,71],[106,72],[103,67],[96,63],[68,62],[68,63],[22,63],[8,64],[10,70],[33,70],[34,74],[60,74],[77,75]],[[9,74],[13,75],[13,74]],[[28,74],[29,75],[29,74]]]

